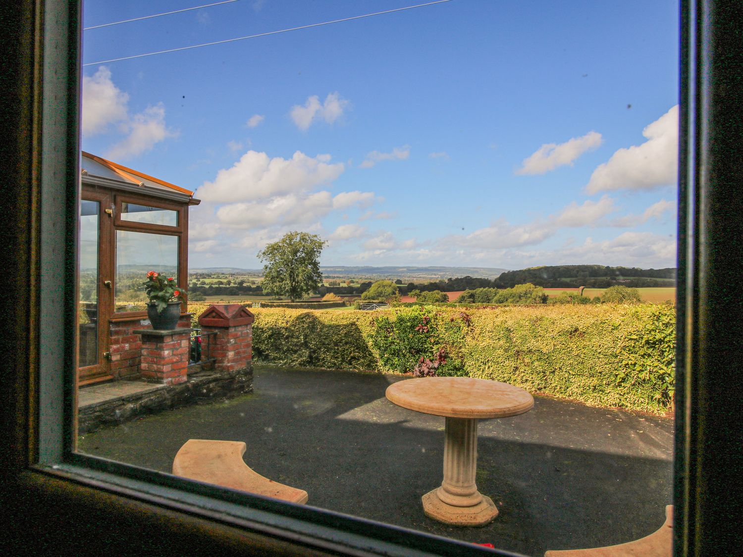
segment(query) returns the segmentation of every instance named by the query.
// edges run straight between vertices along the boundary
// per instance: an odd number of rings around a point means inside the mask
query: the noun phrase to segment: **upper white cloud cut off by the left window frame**
[[[93,76],[82,77],[82,135],[103,133],[108,126],[127,120],[129,95],[111,80],[111,71],[100,66]]]

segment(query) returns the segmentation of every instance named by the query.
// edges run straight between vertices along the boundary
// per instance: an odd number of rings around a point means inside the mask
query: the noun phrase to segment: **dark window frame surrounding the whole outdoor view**
[[[733,555],[740,549],[743,418],[729,382],[742,368],[743,300],[720,293],[736,292],[743,276],[743,4],[684,0],[681,8],[674,554]],[[4,547],[125,555],[143,547],[182,555],[411,555],[414,547],[478,553],[457,541],[181,485],[74,454],[80,5],[18,0],[0,6],[0,16],[9,68],[0,78],[7,100],[0,232],[14,250],[3,299],[13,335],[0,400],[2,495],[14,512]]]

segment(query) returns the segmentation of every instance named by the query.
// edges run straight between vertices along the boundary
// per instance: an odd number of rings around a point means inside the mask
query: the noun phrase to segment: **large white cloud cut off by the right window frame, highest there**
[[[645,143],[619,149],[598,166],[585,190],[653,189],[675,183],[678,174],[678,105],[643,129]]]

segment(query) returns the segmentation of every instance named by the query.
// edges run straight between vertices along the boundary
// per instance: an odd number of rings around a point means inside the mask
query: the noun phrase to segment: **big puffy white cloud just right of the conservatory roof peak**
[[[220,170],[213,182],[205,182],[196,197],[235,202],[302,192],[331,183],[343,173],[343,163],[329,164],[329,160],[328,155],[313,158],[299,151],[291,159],[248,151],[230,169]]]

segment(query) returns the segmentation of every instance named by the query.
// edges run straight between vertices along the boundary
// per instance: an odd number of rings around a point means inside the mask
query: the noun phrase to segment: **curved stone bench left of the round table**
[[[214,483],[291,503],[307,502],[307,492],[264,478],[247,466],[242,441],[189,439],[173,459],[173,474],[182,478]]]

